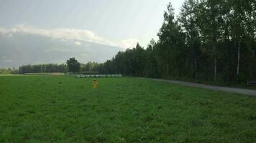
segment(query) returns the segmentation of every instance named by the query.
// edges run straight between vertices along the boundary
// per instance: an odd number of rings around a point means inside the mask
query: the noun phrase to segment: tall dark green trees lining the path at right
[[[255,35],[255,0],[186,0],[176,18],[168,4],[158,41],[120,51],[99,71],[229,83],[256,79]]]

